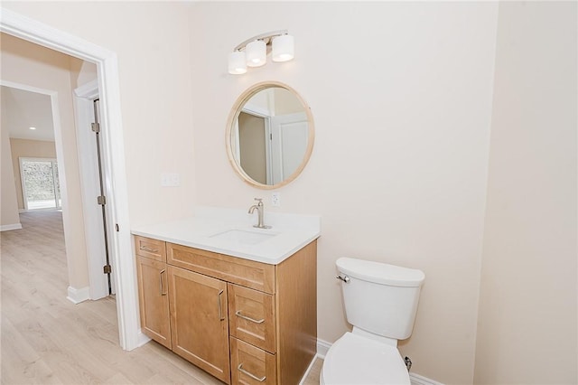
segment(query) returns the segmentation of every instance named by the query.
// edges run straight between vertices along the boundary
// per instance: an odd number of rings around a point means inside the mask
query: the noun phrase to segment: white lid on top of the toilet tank
[[[364,281],[390,286],[419,287],[424,282],[422,270],[402,268],[387,263],[356,258],[339,258],[336,262],[341,273]]]

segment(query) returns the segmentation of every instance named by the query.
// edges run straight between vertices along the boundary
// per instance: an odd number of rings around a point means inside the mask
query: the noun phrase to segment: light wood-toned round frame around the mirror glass
[[[241,165],[238,164],[237,160],[235,159],[235,155],[233,153],[233,148],[232,148],[232,143],[231,143],[232,139],[231,138],[232,138],[233,129],[235,127],[235,122],[238,120],[238,116],[241,113],[241,111],[243,110],[243,107],[247,104],[247,101],[249,99],[251,99],[253,96],[255,96],[256,93],[258,93],[264,89],[270,89],[270,88],[286,89],[286,90],[290,91],[296,99],[299,100],[299,102],[303,106],[303,110],[305,112],[305,115],[307,116],[307,124],[308,124],[307,134],[308,134],[308,136],[307,136],[307,147],[305,150],[305,154],[303,155],[303,160],[302,160],[301,164],[299,164],[299,166],[295,169],[294,173],[289,175],[288,177],[284,178],[283,182],[281,182],[281,183],[263,184],[263,183],[256,182],[253,178],[251,178],[245,172],[245,170],[243,170]],[[243,181],[245,181],[246,183],[248,183],[248,184],[250,184],[256,188],[259,188],[259,189],[263,189],[263,190],[278,189],[280,187],[283,187],[287,183],[293,182],[295,180],[295,178],[297,178],[297,176],[299,176],[302,173],[303,168],[305,168],[305,165],[307,165],[307,163],[309,162],[309,159],[311,158],[311,154],[313,151],[314,139],[315,139],[315,127],[313,124],[313,117],[312,117],[312,113],[311,113],[311,108],[305,102],[305,100],[303,100],[303,98],[301,97],[301,95],[299,95],[299,93],[297,91],[295,91],[293,88],[291,88],[291,87],[287,86],[286,84],[281,83],[279,81],[264,81],[261,83],[257,83],[254,86],[247,89],[245,92],[243,92],[238,97],[237,101],[233,105],[233,108],[231,108],[231,111],[228,115],[227,130],[225,133],[225,142],[226,142],[225,146],[227,147],[228,162],[231,164],[231,166],[233,167],[235,172],[239,175],[239,177]]]

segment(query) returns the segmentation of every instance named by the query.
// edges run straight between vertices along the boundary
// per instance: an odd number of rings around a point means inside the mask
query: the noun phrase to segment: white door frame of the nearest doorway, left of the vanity
[[[116,266],[113,274],[117,283],[118,336],[123,349],[133,350],[149,339],[140,332],[138,296],[135,290],[135,261],[131,257],[133,248],[128,212],[117,54],[5,8],[2,8],[0,32],[97,64],[102,121],[107,127],[107,135],[103,136],[103,157],[106,159],[106,193],[108,210],[111,214],[109,227],[111,230],[114,229],[109,231],[109,234],[111,257]],[[54,110],[57,95],[51,95],[51,99]],[[56,110],[58,111],[58,108]],[[115,225],[118,226],[118,231]]]

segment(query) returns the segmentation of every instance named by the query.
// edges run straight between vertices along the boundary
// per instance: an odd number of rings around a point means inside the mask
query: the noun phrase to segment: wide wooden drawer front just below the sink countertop
[[[210,277],[275,293],[275,266],[167,243],[167,262]]]

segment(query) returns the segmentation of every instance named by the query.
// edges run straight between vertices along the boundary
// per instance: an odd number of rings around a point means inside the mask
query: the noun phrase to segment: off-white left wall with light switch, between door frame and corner
[[[131,223],[191,215],[190,5],[177,2],[3,2],[3,7],[117,53]],[[73,69],[75,70],[75,69]],[[180,187],[161,187],[162,173]]]

